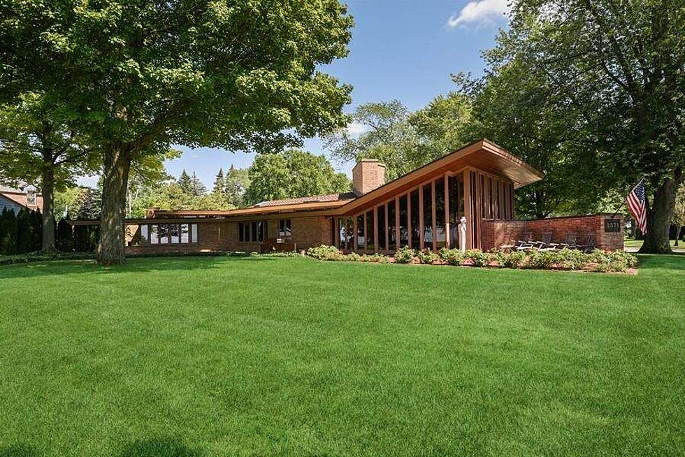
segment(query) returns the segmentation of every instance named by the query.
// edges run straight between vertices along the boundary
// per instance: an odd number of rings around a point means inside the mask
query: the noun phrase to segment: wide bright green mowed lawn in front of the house
[[[0,267],[0,456],[667,456],[685,256],[638,275]]]

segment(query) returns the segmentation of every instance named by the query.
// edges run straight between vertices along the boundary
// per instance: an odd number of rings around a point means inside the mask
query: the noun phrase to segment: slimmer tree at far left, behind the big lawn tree
[[[0,105],[0,175],[38,184],[43,196],[43,251],[55,249],[55,190],[94,168],[73,113],[45,94],[24,93]]]

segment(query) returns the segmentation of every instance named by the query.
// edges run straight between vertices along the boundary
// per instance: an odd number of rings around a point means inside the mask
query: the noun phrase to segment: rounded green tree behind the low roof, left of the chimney
[[[248,174],[250,187],[245,201],[250,205],[351,189],[349,178],[345,173],[336,173],[326,157],[300,150],[257,156]]]

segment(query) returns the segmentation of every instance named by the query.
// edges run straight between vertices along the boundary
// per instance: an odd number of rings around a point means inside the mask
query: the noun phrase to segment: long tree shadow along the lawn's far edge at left
[[[99,266],[92,260],[47,261],[36,263],[17,263],[0,266],[0,279],[15,277],[40,277],[73,274],[87,275],[120,275],[130,273],[149,273],[154,271],[203,270],[217,268],[226,263],[235,263],[229,268],[242,268],[245,262],[273,262],[281,260],[276,257],[259,256],[160,256],[131,257],[124,266]],[[285,260],[285,259],[283,259]],[[1,456],[0,456],[1,457]]]

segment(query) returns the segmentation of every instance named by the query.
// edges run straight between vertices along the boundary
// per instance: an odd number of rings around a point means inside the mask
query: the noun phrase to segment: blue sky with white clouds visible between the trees
[[[410,110],[421,108],[438,94],[454,89],[451,73],[482,73],[480,52],[491,48],[499,27],[505,27],[507,0],[347,0],[356,25],[349,56],[326,66],[327,73],[351,84],[352,104],[398,99]],[[168,161],[178,176],[185,168],[210,187],[223,167],[246,167],[254,154],[178,147],[180,159]],[[305,149],[326,154],[317,138]],[[333,161],[349,173],[352,164]],[[91,184],[92,178],[82,180]]]

